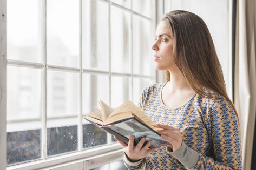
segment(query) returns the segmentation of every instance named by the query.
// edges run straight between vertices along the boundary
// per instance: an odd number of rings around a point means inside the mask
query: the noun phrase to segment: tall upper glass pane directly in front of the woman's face
[[[149,44],[150,21],[133,15],[133,73],[149,76],[153,56]]]

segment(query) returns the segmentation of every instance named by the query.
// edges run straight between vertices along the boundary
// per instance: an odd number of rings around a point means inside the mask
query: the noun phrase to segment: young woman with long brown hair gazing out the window
[[[139,107],[170,145],[149,148],[117,139],[128,169],[241,169],[237,111],[228,98],[212,37],[202,19],[188,11],[167,13],[152,46],[166,83],[145,87]]]

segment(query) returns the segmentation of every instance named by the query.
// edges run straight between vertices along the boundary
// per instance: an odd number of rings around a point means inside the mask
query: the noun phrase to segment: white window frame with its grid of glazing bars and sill
[[[132,15],[139,15],[145,19],[149,19],[150,26],[152,30],[150,31],[150,35],[152,35],[152,38],[150,38],[150,42],[153,43],[154,35],[155,35],[155,25],[156,25],[156,0],[152,0],[150,3],[150,18],[143,16],[137,12],[134,12],[130,9],[124,8],[121,5],[115,4],[111,1],[107,0],[97,0],[97,1],[104,1],[108,3],[109,8],[109,28],[110,28],[110,7],[111,5],[116,6],[117,8],[120,8],[122,10],[128,11],[130,13],[130,16]],[[82,0],[79,0],[80,2],[80,66],[79,69],[73,68],[73,67],[65,67],[65,66],[56,66],[56,65],[49,65],[47,63],[47,56],[46,56],[46,0],[43,0],[43,63],[32,63],[32,62],[23,62],[19,60],[7,60],[7,39],[6,39],[6,0],[1,1],[0,5],[0,87],[1,87],[1,98],[0,98],[0,169],[42,169],[42,168],[52,168],[52,169],[70,169],[70,167],[77,167],[82,169],[91,169],[95,167],[102,166],[104,164],[108,164],[109,162],[122,160],[123,157],[123,150],[119,144],[110,144],[103,147],[96,147],[92,149],[88,149],[86,151],[83,151],[83,139],[82,139],[82,75],[83,73],[92,73],[96,75],[104,74],[109,76],[109,92],[111,94],[111,76],[121,76],[121,77],[131,77],[131,86],[133,90],[133,77],[139,77],[139,78],[151,78],[154,81],[158,81],[156,79],[156,73],[157,71],[153,71],[153,76],[141,76],[133,74],[133,69],[131,74],[127,73],[115,73],[110,71],[110,64],[111,64],[111,44],[110,44],[110,29],[109,29],[109,71],[95,71],[95,70],[88,70],[88,69],[82,69]],[[132,23],[133,24],[133,23]],[[132,24],[131,28],[132,29]],[[133,42],[133,36],[131,34],[131,49],[133,50],[132,42]],[[150,49],[149,49],[150,50]],[[133,55],[133,52],[132,54]],[[133,57],[131,57],[131,60]],[[131,61],[132,63],[132,61]],[[18,66],[18,67],[29,67],[34,69],[41,69],[43,70],[43,76],[42,76],[42,82],[43,82],[43,114],[42,114],[42,144],[41,144],[41,153],[42,157],[39,160],[29,161],[25,162],[23,164],[13,165],[7,167],[6,165],[6,70],[7,65],[12,66]],[[60,156],[47,158],[47,70],[55,70],[55,71],[67,71],[67,72],[77,72],[79,73],[79,84],[80,84],[80,109],[79,109],[79,124],[78,124],[78,151],[73,153],[67,153],[62,154]],[[133,96],[132,96],[133,98]],[[109,95],[109,101],[110,100]],[[110,103],[111,104],[111,103]],[[108,144],[111,140],[111,135],[108,135]]]

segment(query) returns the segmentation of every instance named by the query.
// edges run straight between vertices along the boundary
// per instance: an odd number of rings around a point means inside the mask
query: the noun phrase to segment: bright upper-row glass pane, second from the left
[[[78,67],[79,1],[47,1],[47,63]]]

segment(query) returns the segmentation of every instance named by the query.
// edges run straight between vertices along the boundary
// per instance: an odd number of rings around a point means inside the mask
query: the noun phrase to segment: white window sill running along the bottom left
[[[69,153],[47,160],[35,160],[24,164],[7,167],[12,169],[92,169],[109,162],[122,160],[123,149],[119,144],[88,149],[87,151]],[[74,169],[74,168],[72,168]]]

